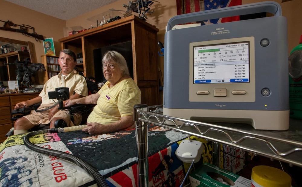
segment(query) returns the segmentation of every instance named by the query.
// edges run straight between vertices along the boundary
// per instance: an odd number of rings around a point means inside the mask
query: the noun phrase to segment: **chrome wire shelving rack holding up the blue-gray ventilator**
[[[148,124],[211,140],[216,143],[216,147],[223,143],[302,167],[301,120],[291,119],[287,131],[264,131],[255,130],[247,124],[218,125],[166,116],[158,112],[162,111],[161,108],[162,105],[136,105],[133,109],[137,133],[139,186],[148,186]]]

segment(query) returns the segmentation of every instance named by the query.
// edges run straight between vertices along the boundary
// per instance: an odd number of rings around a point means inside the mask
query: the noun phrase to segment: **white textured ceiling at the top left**
[[[82,15],[118,0],[5,0],[62,20]]]

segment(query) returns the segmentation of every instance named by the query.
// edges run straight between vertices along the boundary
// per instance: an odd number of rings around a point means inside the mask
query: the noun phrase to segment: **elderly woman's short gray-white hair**
[[[124,56],[121,55],[120,53],[118,53],[116,51],[107,51],[107,53],[104,54],[103,59],[102,59],[102,63],[105,63],[105,62],[117,63],[120,70],[122,70],[123,75],[130,76],[127,62],[126,62]]]

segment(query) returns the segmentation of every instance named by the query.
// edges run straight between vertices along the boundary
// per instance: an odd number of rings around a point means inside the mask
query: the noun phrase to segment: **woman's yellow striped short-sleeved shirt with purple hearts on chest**
[[[121,117],[133,114],[133,106],[140,104],[140,89],[133,79],[124,79],[109,88],[106,82],[98,92],[97,105],[87,119],[87,123],[109,124]]]

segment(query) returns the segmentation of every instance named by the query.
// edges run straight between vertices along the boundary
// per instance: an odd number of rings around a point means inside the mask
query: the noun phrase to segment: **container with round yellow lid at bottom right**
[[[271,166],[255,166],[252,169],[251,187],[291,187],[291,176]]]

